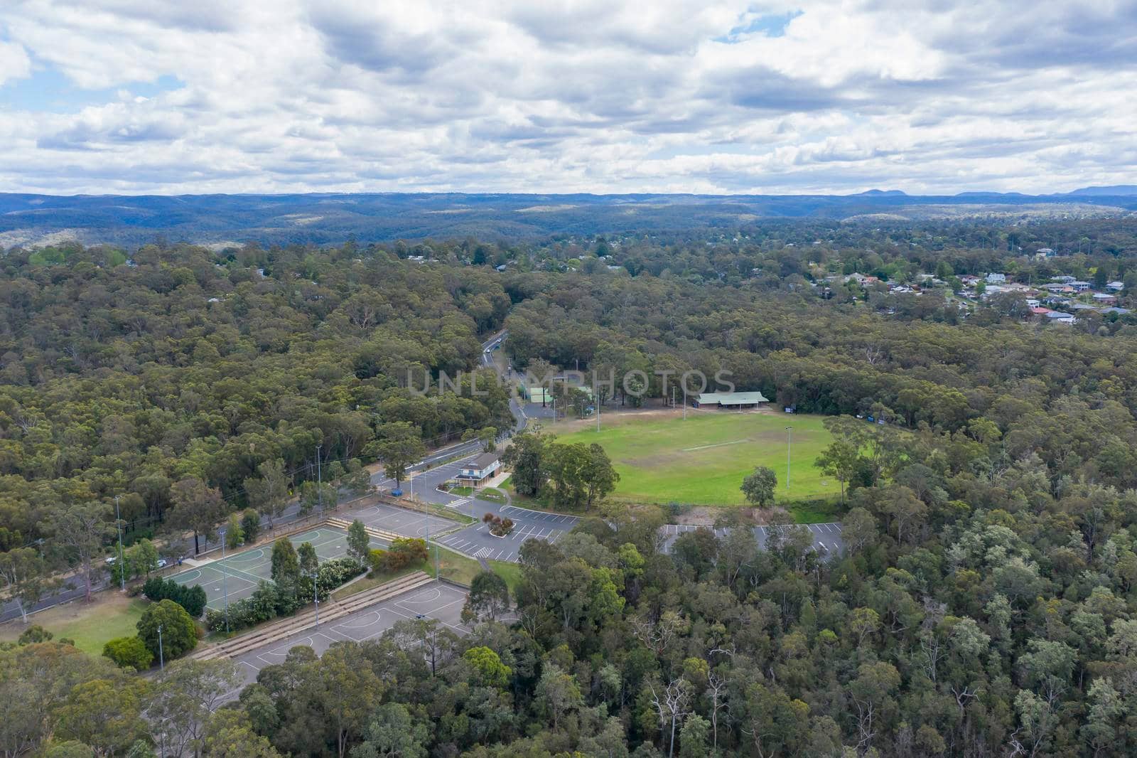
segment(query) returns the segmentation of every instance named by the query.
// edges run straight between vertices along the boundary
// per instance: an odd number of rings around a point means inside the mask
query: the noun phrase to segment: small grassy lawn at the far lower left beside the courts
[[[102,654],[102,645],[115,637],[138,633],[135,626],[148,601],[126,598],[119,592],[100,592],[90,603],[73,601],[42,610],[28,617],[28,625],[39,624],[56,635],[75,641],[75,646],[92,656]],[[0,640],[14,641],[27,627],[17,618],[0,625]]]

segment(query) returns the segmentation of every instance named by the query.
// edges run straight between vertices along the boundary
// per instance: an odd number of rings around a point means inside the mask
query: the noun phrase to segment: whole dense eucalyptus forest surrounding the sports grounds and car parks
[[[524,544],[509,615],[487,577],[464,636],[418,619],[298,648],[224,703],[229,662],[143,677],[31,635],[0,651],[0,755],[1134,755],[1137,320],[1038,323],[1020,296],[954,291],[991,271],[1120,280],[1127,305],[1137,226],[9,250],[0,552],[25,576],[92,571],[116,496],[139,534],[209,532],[283,506],[317,448],[347,478],[408,425],[428,445],[508,426],[508,388],[407,381],[475,370],[500,328],[518,368],[725,368],[778,405],[889,423],[829,451],[841,555],[790,526],[664,553],[659,509],[608,508]]]

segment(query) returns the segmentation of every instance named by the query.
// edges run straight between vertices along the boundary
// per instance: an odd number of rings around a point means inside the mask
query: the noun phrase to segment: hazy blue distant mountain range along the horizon
[[[161,236],[214,247],[429,237],[537,238],[735,229],[760,219],[1069,219],[1137,212],[1137,186],[1055,195],[15,195],[0,193],[0,248],[65,239],[135,247]]]

